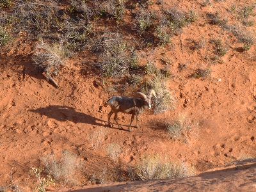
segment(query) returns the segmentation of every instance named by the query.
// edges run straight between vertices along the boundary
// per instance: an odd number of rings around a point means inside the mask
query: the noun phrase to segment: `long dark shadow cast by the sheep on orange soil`
[[[54,118],[60,122],[70,121],[75,124],[84,123],[106,127],[106,121],[78,112],[74,108],[68,106],[47,106],[45,108],[33,109],[30,111],[48,116],[49,118]]]

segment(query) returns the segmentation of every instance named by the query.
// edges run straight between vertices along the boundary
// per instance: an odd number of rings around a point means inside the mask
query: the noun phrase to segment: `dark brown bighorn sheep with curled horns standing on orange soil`
[[[131,114],[131,122],[128,127],[129,131],[131,131],[131,124],[134,120],[134,116],[136,116],[136,125],[135,127],[140,127],[138,125],[138,115],[143,113],[143,111],[147,108],[151,108],[151,97],[154,95],[156,97],[156,93],[154,90],[149,90],[148,95],[144,93],[138,92],[134,97],[121,97],[121,96],[113,96],[111,97],[104,106],[109,105],[111,107],[111,111],[108,113],[108,126],[111,127],[110,118],[113,113],[115,113],[114,120],[118,125],[119,129],[123,129],[117,122],[117,113],[129,113]]]

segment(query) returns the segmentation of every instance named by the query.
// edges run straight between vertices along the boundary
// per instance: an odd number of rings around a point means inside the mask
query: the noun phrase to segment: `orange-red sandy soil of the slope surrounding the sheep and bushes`
[[[43,166],[44,156],[55,154],[59,157],[64,150],[76,154],[83,164],[84,174],[77,176],[78,185],[85,187],[90,184],[89,175],[100,175],[104,170],[106,180],[113,183],[117,163],[106,153],[111,143],[122,147],[119,164],[124,167],[136,165],[147,154],[159,154],[170,161],[193,167],[195,174],[256,156],[255,46],[240,52],[238,48],[243,44],[237,42],[232,33],[209,24],[205,16],[220,10],[230,22],[235,22],[229,8],[233,4],[244,6],[253,1],[214,2],[212,6],[202,6],[199,1],[165,3],[166,7],[193,8],[200,17],[186,26],[180,36],[173,36],[173,45],[157,47],[154,52],[147,49],[140,52],[141,63],[148,54],[159,68],[163,67],[161,59],[172,61],[173,77],[168,81],[168,88],[177,98],[177,106],[159,115],[148,110],[141,115],[141,127],[132,132],[119,130],[115,124],[111,128],[106,126],[109,108],[102,106],[109,97],[118,93],[106,92],[106,87],[99,83],[101,77],[95,69],[96,56],[92,53],[83,51],[65,61],[65,67],[56,77],[60,85],[57,89],[33,67],[31,55],[36,42],[28,42],[26,36],[18,35],[11,45],[1,50],[0,186],[10,186],[14,180],[25,191],[31,191],[36,182],[31,167]],[[255,26],[248,27],[248,30],[253,34],[256,32]],[[205,47],[191,50],[192,42],[202,38],[206,40]],[[214,54],[209,43],[211,38],[221,38],[228,47],[221,63],[209,60]],[[180,72],[179,64],[186,64],[187,68]],[[212,71],[210,77],[189,77],[197,68],[208,67]],[[186,115],[198,125],[188,134],[186,141],[170,140],[163,124],[166,119],[175,120],[179,115]],[[129,124],[129,115],[120,114],[119,121],[122,125]],[[97,142],[97,138],[92,141],[90,136],[99,130],[105,137],[99,148],[94,149],[93,142]],[[223,178],[227,183],[221,180]],[[154,184],[152,190],[163,191],[207,190],[208,186],[218,191],[230,188],[230,185],[234,190],[251,190],[252,178],[255,179],[253,164],[250,169],[231,168],[188,179],[166,180],[164,185],[168,187],[162,186],[163,182],[158,180],[149,185]],[[192,181],[198,186],[191,186]],[[113,190],[143,191],[147,184],[124,184],[113,187]]]

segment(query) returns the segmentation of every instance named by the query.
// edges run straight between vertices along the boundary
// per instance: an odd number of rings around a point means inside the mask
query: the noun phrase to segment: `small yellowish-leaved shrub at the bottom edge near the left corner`
[[[52,179],[51,175],[47,175],[46,178],[42,177],[42,169],[32,168],[32,173],[37,179],[35,191],[45,192],[45,188],[55,184],[55,181]]]

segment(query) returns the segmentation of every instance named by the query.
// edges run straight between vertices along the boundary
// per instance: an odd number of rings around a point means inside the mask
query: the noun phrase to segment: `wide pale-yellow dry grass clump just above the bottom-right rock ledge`
[[[147,156],[138,164],[136,174],[141,180],[188,177],[191,171],[184,164],[172,163],[160,156]]]

